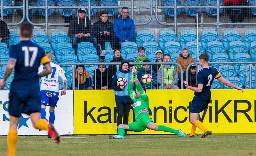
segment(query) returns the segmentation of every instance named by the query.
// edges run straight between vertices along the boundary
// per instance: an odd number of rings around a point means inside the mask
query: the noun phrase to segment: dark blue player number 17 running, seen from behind
[[[39,130],[46,130],[56,143],[60,143],[60,136],[52,124],[41,119],[41,94],[39,91],[39,77],[52,73],[49,59],[44,50],[31,42],[33,36],[32,25],[25,22],[20,25],[20,42],[10,46],[9,61],[5,69],[4,78],[0,81],[0,87],[4,88],[7,78],[15,69],[14,79],[9,93],[8,111],[10,114],[10,130],[7,136],[8,149],[6,155],[15,155],[15,147],[18,140],[17,127],[21,113],[30,116],[33,126]],[[38,73],[40,62],[45,70]]]

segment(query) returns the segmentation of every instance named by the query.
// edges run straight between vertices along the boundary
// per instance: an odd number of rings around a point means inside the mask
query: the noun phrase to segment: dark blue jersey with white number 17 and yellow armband
[[[14,68],[14,79],[10,90],[39,91],[38,67],[40,63],[49,63],[49,59],[45,56],[44,50],[30,40],[22,40],[10,46],[9,58],[17,60]]]

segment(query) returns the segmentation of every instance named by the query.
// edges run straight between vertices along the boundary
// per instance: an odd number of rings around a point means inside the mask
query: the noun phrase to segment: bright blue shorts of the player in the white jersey
[[[59,100],[59,93],[54,91],[41,90],[42,104],[45,106],[56,107]]]

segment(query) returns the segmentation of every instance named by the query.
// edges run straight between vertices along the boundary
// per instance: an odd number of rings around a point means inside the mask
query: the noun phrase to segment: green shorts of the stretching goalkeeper
[[[153,122],[146,112],[141,112],[137,117],[136,121],[128,124],[129,131],[141,132],[144,131],[148,123]]]

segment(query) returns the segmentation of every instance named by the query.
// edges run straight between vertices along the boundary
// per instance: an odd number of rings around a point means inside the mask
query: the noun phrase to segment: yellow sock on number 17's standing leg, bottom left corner
[[[8,144],[8,151],[9,156],[15,155],[15,148],[18,140],[18,132],[17,130],[10,129],[7,135],[7,144]]]

